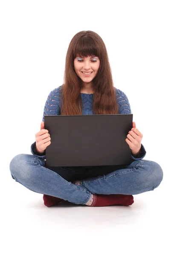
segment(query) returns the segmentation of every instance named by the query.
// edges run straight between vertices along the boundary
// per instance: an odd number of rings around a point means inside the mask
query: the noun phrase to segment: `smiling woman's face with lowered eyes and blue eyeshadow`
[[[99,70],[100,60],[96,56],[88,56],[81,58],[77,56],[74,59],[75,73],[84,83],[90,83]]]

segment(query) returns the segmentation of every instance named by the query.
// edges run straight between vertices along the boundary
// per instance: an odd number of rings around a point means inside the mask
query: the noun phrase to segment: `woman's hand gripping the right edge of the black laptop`
[[[136,128],[135,122],[133,122],[133,128],[128,132],[126,142],[128,143],[132,154],[139,154],[142,141],[142,133]]]

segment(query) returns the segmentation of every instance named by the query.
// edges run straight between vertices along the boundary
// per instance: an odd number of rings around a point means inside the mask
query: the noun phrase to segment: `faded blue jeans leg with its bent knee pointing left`
[[[46,162],[30,154],[18,154],[10,163],[12,178],[26,188],[41,194],[52,195],[73,204],[86,204],[91,193],[72,184],[58,173],[46,168]]]

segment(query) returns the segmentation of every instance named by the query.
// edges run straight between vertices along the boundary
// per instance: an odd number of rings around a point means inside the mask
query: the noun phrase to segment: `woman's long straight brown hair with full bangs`
[[[117,114],[118,105],[107,49],[101,37],[88,30],[78,32],[67,50],[64,84],[61,86],[61,115],[82,115],[81,79],[75,73],[73,64],[78,55],[95,55],[100,59],[98,73],[93,79],[93,114]]]

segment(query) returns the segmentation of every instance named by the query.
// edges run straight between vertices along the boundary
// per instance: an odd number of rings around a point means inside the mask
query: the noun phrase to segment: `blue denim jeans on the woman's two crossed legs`
[[[31,154],[16,155],[10,172],[26,188],[73,204],[86,204],[92,193],[136,195],[151,191],[163,178],[159,164],[149,160],[133,160],[125,166],[46,168],[46,160]],[[80,186],[73,184],[74,180],[81,180]]]

